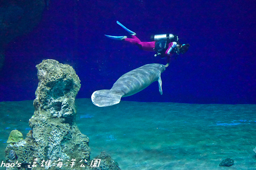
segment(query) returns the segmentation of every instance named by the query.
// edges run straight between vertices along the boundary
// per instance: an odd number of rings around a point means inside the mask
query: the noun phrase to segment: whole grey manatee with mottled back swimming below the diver
[[[116,105],[121,97],[136,94],[155,81],[158,81],[159,92],[162,95],[161,73],[165,69],[165,65],[153,63],[129,71],[117,79],[110,90],[94,91],[91,96],[92,102],[99,107]]]

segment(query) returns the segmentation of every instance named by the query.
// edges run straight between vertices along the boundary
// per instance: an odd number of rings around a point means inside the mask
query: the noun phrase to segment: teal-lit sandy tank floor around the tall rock
[[[26,137],[32,104],[0,102],[0,162],[12,130]],[[76,105],[91,158],[104,150],[122,170],[256,170],[256,105],[121,101],[98,108],[90,99]],[[226,158],[234,165],[219,167]]]

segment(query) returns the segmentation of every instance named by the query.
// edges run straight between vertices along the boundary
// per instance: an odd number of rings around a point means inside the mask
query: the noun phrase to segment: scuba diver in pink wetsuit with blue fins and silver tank
[[[127,36],[105,35],[106,37],[136,44],[140,49],[144,51],[155,51],[157,53],[154,55],[155,57],[159,55],[161,58],[167,58],[166,67],[169,65],[170,58],[174,54],[184,54],[189,49],[189,44],[180,44],[178,36],[173,34],[151,35],[151,42],[141,42],[140,39],[136,37],[135,32],[129,30],[118,21],[116,21],[116,23],[128,31],[128,33],[131,35],[131,38],[128,38]]]

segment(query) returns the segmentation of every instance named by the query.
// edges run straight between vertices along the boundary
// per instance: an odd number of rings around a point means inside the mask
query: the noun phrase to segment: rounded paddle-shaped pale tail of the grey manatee
[[[112,90],[94,91],[91,99],[94,105],[106,107],[116,105],[120,102],[122,95],[114,93]]]

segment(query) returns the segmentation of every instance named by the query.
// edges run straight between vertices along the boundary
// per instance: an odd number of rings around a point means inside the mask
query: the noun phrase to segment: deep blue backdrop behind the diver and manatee
[[[6,48],[0,71],[0,101],[35,98],[35,65],[56,59],[73,66],[81,80],[78,98],[110,89],[122,74],[148,63],[166,64],[154,53],[108,39],[137,33],[178,34],[191,46],[173,59],[157,82],[123,100],[256,104],[256,2],[253,0],[50,0],[39,25]]]

